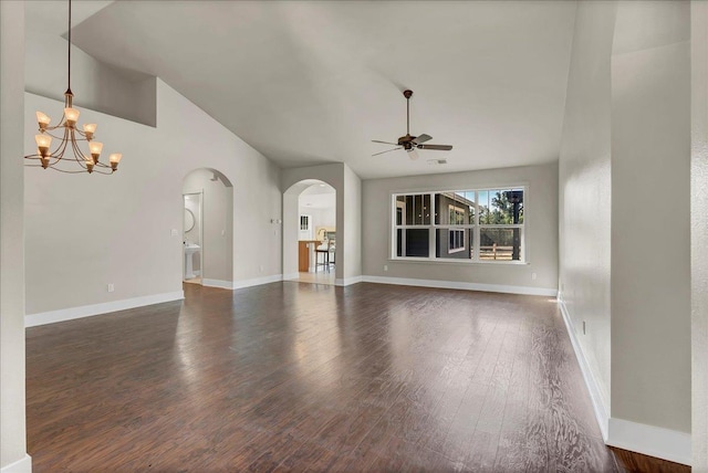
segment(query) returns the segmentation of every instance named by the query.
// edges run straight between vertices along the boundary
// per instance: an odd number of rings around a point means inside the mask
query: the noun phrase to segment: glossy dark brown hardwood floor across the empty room
[[[185,292],[28,328],[35,472],[624,471],[549,297]]]

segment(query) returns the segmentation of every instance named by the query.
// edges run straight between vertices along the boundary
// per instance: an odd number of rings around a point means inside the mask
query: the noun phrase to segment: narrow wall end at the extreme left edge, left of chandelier
[[[0,470],[32,469],[24,420],[24,3],[0,2]]]

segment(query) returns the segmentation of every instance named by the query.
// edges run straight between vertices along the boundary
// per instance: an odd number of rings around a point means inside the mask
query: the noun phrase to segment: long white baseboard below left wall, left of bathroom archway
[[[128,308],[160,304],[164,302],[180,301],[183,298],[185,298],[184,291],[175,291],[173,293],[154,294],[149,296],[125,298],[101,304],[84,305],[81,307],[70,307],[59,311],[41,312],[38,314],[27,315],[24,317],[24,326],[35,327],[38,325],[54,324],[56,322],[72,320],[74,318],[91,317],[93,315],[106,314],[110,312],[125,311]]]

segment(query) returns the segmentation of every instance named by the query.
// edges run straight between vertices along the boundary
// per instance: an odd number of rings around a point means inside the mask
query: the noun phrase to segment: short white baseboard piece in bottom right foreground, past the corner
[[[690,434],[610,418],[607,445],[656,456],[670,462],[691,464]]]

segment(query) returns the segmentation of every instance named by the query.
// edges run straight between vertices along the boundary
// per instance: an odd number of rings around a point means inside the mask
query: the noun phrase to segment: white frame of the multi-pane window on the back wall
[[[480,202],[479,202],[479,192],[483,191],[497,191],[497,190],[521,190],[523,191],[523,222],[513,224],[480,224]],[[458,192],[475,192],[475,206],[473,206],[473,223],[469,224],[447,224],[447,223],[435,223],[435,214],[438,209],[436,209],[435,196],[444,195],[444,193],[458,193]],[[397,200],[398,197],[405,196],[420,196],[420,195],[429,195],[430,202],[430,223],[429,224],[398,224],[397,223],[397,213],[400,210],[400,204],[403,204],[402,214],[405,216],[405,202],[400,202]],[[527,224],[529,222],[528,216],[528,201],[529,201],[529,186],[527,183],[517,183],[517,185],[501,185],[501,186],[483,186],[483,187],[472,187],[472,188],[460,188],[457,190],[399,190],[391,192],[391,221],[388,225],[389,232],[389,252],[388,260],[396,262],[430,262],[430,263],[442,263],[442,264],[529,264],[528,259],[528,248],[529,244],[527,242]],[[452,204],[448,204],[448,212],[451,212]],[[405,234],[407,229],[428,229],[428,256],[398,256],[397,255],[397,232],[402,231],[404,235],[404,240],[402,241],[402,248],[405,248]],[[519,251],[520,259],[519,260],[494,260],[487,259],[482,256],[481,241],[480,236],[485,229],[519,229]],[[436,243],[437,235],[436,232],[438,230],[469,230],[471,235],[471,245],[468,245],[468,242],[465,236],[462,236],[464,246],[458,250],[449,250],[449,238],[445,243],[448,246],[448,254],[454,254],[459,251],[467,250],[470,246],[471,257],[469,259],[450,259],[450,257],[438,257],[436,256]]]

